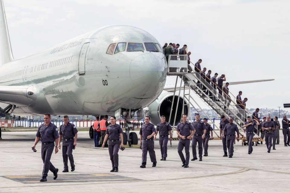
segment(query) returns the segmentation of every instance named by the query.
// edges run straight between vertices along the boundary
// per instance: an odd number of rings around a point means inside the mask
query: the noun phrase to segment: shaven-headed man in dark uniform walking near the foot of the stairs
[[[224,127],[223,138],[227,135],[227,147],[229,149],[229,158],[232,158],[234,155],[234,142],[236,139],[237,132],[237,141],[239,141],[240,133],[236,124],[233,123],[233,118],[229,119],[229,123]]]

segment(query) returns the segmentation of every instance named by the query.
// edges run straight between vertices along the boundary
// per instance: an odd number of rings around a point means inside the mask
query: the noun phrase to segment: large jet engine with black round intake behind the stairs
[[[164,115],[166,118],[166,122],[169,122],[169,115],[170,115],[170,109],[172,105],[173,100],[173,93],[163,91],[158,98],[151,103],[147,108],[145,109],[145,115],[150,116],[150,122],[154,125],[157,125],[160,122],[161,115]],[[173,125],[174,122],[174,115],[176,113],[176,120],[175,125],[177,125],[180,120],[182,114],[182,105],[183,105],[183,97],[179,97],[179,103],[177,105],[178,95],[174,96],[174,102],[173,102],[173,109],[172,109],[172,115],[170,119],[170,125]],[[187,101],[184,101],[185,104],[187,104]],[[185,114],[188,115],[188,108],[185,106]]]

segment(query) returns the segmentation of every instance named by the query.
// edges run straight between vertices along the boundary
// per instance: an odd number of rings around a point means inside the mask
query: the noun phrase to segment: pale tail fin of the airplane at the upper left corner
[[[0,0],[0,65],[13,61],[3,0]]]

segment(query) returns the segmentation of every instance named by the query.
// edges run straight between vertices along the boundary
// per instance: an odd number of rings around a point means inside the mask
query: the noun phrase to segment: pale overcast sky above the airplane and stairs
[[[290,103],[289,1],[4,0],[4,5],[14,58],[98,27],[132,25],[160,44],[187,44],[192,62],[201,58],[201,67],[226,74],[227,81],[275,78],[229,87],[235,95],[243,91],[248,108]],[[167,84],[174,82],[171,77]]]

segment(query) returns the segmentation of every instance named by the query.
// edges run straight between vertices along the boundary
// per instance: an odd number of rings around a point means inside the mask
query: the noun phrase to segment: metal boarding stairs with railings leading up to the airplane
[[[174,55],[176,57],[176,55]],[[183,106],[188,107],[190,112],[190,105],[194,107],[194,109],[199,113],[199,112],[203,112],[202,109],[200,108],[200,106],[198,105],[198,103],[193,99],[193,97],[190,95],[190,91],[192,90],[199,98],[201,98],[201,100],[206,104],[206,106],[210,107],[210,109],[212,109],[217,115],[219,115],[219,117],[221,117],[221,115],[225,115],[227,118],[231,117],[233,119],[234,124],[237,125],[237,127],[239,128],[240,131],[240,136],[242,137],[242,144],[246,144],[246,133],[244,132],[245,128],[242,128],[244,121],[246,121],[247,116],[252,115],[248,109],[240,109],[240,107],[237,105],[237,103],[235,103],[236,97],[232,94],[232,93],[228,93],[228,95],[226,93],[224,93],[222,91],[222,95],[218,93],[218,90],[215,90],[211,84],[212,81],[210,81],[210,83],[208,83],[207,81],[205,81],[204,78],[202,78],[200,76],[200,73],[187,73],[187,58],[185,61],[185,56],[179,57],[177,56],[177,58],[180,59],[179,65],[176,65],[178,62],[175,60],[174,62],[172,62],[172,60],[170,60],[170,55],[169,55],[169,60],[168,60],[168,75],[178,75],[176,77],[176,86],[177,86],[177,79],[178,77],[181,78],[181,82],[180,82],[180,87],[179,87],[179,97],[180,97],[180,91],[182,89],[182,81],[184,82],[183,84],[183,98],[185,100],[183,100]],[[182,61],[183,59],[183,61]],[[183,63],[182,63],[183,62]],[[185,67],[185,62],[186,62],[186,67]],[[173,63],[173,65],[172,65]],[[181,65],[182,63],[182,65]],[[193,63],[192,63],[193,64]],[[193,64],[194,65],[194,64]],[[178,66],[177,69],[173,68],[173,67]],[[183,68],[182,68],[182,67]],[[186,68],[186,69],[185,69]],[[199,84],[197,84],[199,83]],[[175,86],[175,90],[174,90],[174,95],[176,93],[176,86]],[[188,94],[185,94],[185,90],[189,90]],[[218,87],[217,87],[218,89]],[[227,96],[227,97],[225,97]],[[230,100],[228,100],[230,99]],[[234,100],[232,100],[234,99]],[[179,100],[179,99],[178,99]],[[188,103],[186,103],[185,101],[187,101]],[[195,105],[193,104],[195,103]],[[178,104],[177,104],[178,105]],[[173,106],[173,103],[172,103]],[[197,110],[195,108],[195,106],[198,106],[199,109],[201,110]],[[172,109],[172,108],[171,108]],[[183,108],[184,109],[184,108]],[[183,112],[183,111],[182,111]],[[203,112],[205,115],[206,113]],[[207,118],[208,115],[206,115]],[[170,116],[171,117],[171,113]],[[190,119],[191,119],[191,115],[190,115]],[[176,121],[176,115],[174,118],[174,124],[175,125],[175,121]],[[210,123],[210,122],[209,122]],[[211,122],[211,124],[214,124],[213,122]],[[215,127],[218,129],[219,127],[215,125]],[[257,125],[256,125],[256,129],[257,129]],[[219,132],[217,134],[217,132],[214,132],[217,137],[219,139],[220,135]],[[263,141],[258,135],[255,134],[253,141],[257,142],[258,141]]]

